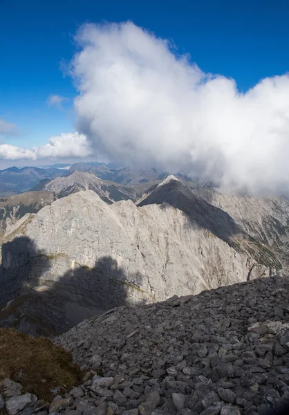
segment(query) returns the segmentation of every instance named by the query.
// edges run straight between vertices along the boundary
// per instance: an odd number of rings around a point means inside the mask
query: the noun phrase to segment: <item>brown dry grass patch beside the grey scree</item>
[[[10,378],[23,385],[23,392],[51,400],[50,389],[70,391],[82,380],[82,371],[71,353],[47,338],[32,338],[14,329],[0,329],[0,380]]]

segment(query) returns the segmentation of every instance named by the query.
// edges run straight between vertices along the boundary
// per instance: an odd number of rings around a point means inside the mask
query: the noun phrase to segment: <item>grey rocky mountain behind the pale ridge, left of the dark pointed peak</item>
[[[58,197],[68,196],[81,190],[93,190],[106,203],[120,200],[136,201],[137,199],[136,192],[129,187],[111,181],[102,181],[93,173],[76,170],[71,174],[57,177],[53,181],[45,183],[43,190],[54,192]]]

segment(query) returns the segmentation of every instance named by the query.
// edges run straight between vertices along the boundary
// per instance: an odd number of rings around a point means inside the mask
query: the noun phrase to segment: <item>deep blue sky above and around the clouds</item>
[[[73,82],[61,70],[87,21],[133,21],[172,39],[205,73],[246,91],[289,69],[288,0],[0,0],[0,118],[17,124],[1,142],[23,148],[75,131]],[[48,106],[50,94],[67,98]]]

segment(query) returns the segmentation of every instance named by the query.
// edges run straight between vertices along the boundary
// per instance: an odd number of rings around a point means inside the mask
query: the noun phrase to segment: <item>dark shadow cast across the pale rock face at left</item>
[[[68,262],[71,268],[58,273]],[[110,256],[89,268],[65,255],[46,255],[28,237],[15,238],[2,246],[0,326],[32,335],[63,333],[111,308],[145,302],[141,283],[139,273],[128,281]]]

